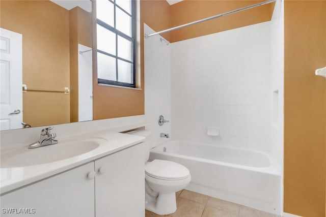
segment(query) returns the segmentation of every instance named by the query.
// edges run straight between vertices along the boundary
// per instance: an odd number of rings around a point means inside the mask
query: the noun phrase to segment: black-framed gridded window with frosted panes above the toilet
[[[98,83],[135,87],[133,0],[97,0]]]

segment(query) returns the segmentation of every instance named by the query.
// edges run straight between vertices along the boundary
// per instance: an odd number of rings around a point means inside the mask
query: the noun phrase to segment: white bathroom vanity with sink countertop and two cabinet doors
[[[2,148],[1,216],[145,216],[144,139],[97,132]]]

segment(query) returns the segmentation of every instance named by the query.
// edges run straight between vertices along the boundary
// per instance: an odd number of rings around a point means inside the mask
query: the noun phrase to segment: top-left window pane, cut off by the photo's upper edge
[[[108,0],[96,1],[96,17],[114,27],[114,6]]]

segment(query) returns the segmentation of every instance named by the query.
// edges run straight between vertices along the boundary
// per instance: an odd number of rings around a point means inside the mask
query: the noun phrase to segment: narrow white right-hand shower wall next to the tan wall
[[[281,207],[283,210],[283,131],[284,131],[284,1],[278,0],[271,18],[271,153],[282,176],[281,178]],[[285,216],[285,215],[284,215]]]

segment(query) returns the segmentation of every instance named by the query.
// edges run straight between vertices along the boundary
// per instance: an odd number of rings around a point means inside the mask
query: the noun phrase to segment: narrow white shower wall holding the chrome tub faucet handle
[[[154,33],[148,25],[144,24],[145,34]],[[146,129],[152,131],[149,143],[150,147],[168,141],[161,138],[160,133],[168,133],[171,136],[171,66],[170,45],[161,42],[159,35],[145,39],[145,114],[150,123]],[[158,116],[163,115],[170,122],[158,125]]]

